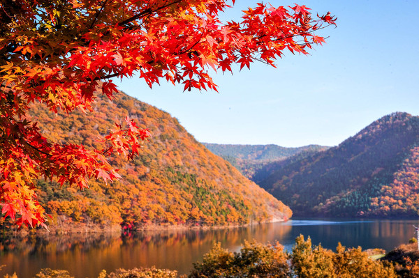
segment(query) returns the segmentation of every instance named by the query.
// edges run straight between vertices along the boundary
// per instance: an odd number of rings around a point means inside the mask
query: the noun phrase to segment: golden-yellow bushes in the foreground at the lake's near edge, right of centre
[[[189,277],[397,277],[390,263],[374,261],[360,247],[346,249],[339,245],[336,252],[312,246],[311,240],[300,235],[293,252],[284,252],[279,243],[262,245],[245,242],[240,252],[229,252],[214,245],[203,261],[194,264]]]

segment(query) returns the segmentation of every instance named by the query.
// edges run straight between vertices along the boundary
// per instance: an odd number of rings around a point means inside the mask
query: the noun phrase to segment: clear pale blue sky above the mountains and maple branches
[[[237,19],[256,1],[236,1],[223,19]],[[337,28],[310,56],[286,53],[277,68],[255,63],[214,75],[219,93],[183,92],[141,79],[119,88],[172,116],[198,141],[219,144],[335,146],[395,111],[419,114],[419,1],[270,1],[306,5],[338,17]]]

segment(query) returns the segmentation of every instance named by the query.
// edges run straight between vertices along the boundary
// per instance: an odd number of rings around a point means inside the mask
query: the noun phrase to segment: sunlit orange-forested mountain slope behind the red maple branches
[[[52,115],[33,105],[31,119],[48,139],[96,146],[99,135],[129,116],[152,137],[130,162],[111,157],[122,180],[91,180],[89,190],[39,180],[38,196],[54,225],[226,225],[288,219],[291,210],[228,162],[212,154],[170,114],[117,93],[99,97],[94,111]],[[51,225],[51,224],[50,224]]]

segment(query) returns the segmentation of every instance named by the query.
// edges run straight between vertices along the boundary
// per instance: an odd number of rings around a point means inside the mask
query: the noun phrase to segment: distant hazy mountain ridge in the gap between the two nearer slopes
[[[308,155],[327,146],[309,145],[298,148],[286,148],[270,145],[234,145],[203,143],[212,153],[223,157],[236,167],[244,176],[255,183],[266,178],[274,169],[283,167],[292,161],[294,155]]]

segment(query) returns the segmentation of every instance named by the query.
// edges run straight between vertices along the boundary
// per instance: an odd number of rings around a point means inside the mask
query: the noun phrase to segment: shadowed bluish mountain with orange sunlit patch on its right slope
[[[294,215],[417,217],[419,117],[393,113],[260,181]]]

